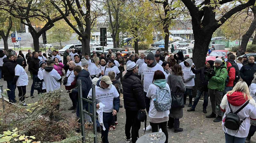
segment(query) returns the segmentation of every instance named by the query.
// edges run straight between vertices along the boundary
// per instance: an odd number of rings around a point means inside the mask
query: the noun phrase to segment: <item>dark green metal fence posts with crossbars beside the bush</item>
[[[78,83],[78,99],[79,99],[79,109],[80,109],[80,123],[81,123],[81,134],[82,141],[85,142],[85,127],[84,127],[84,118],[85,114],[91,116],[93,122],[93,134],[94,134],[94,143],[97,143],[97,125],[96,125],[96,100],[95,100],[95,85],[92,84],[92,101],[83,98],[82,96],[82,84],[81,80],[77,81]],[[84,110],[83,101],[86,101],[88,104],[88,111]],[[90,113],[90,104],[92,105],[92,113]]]

